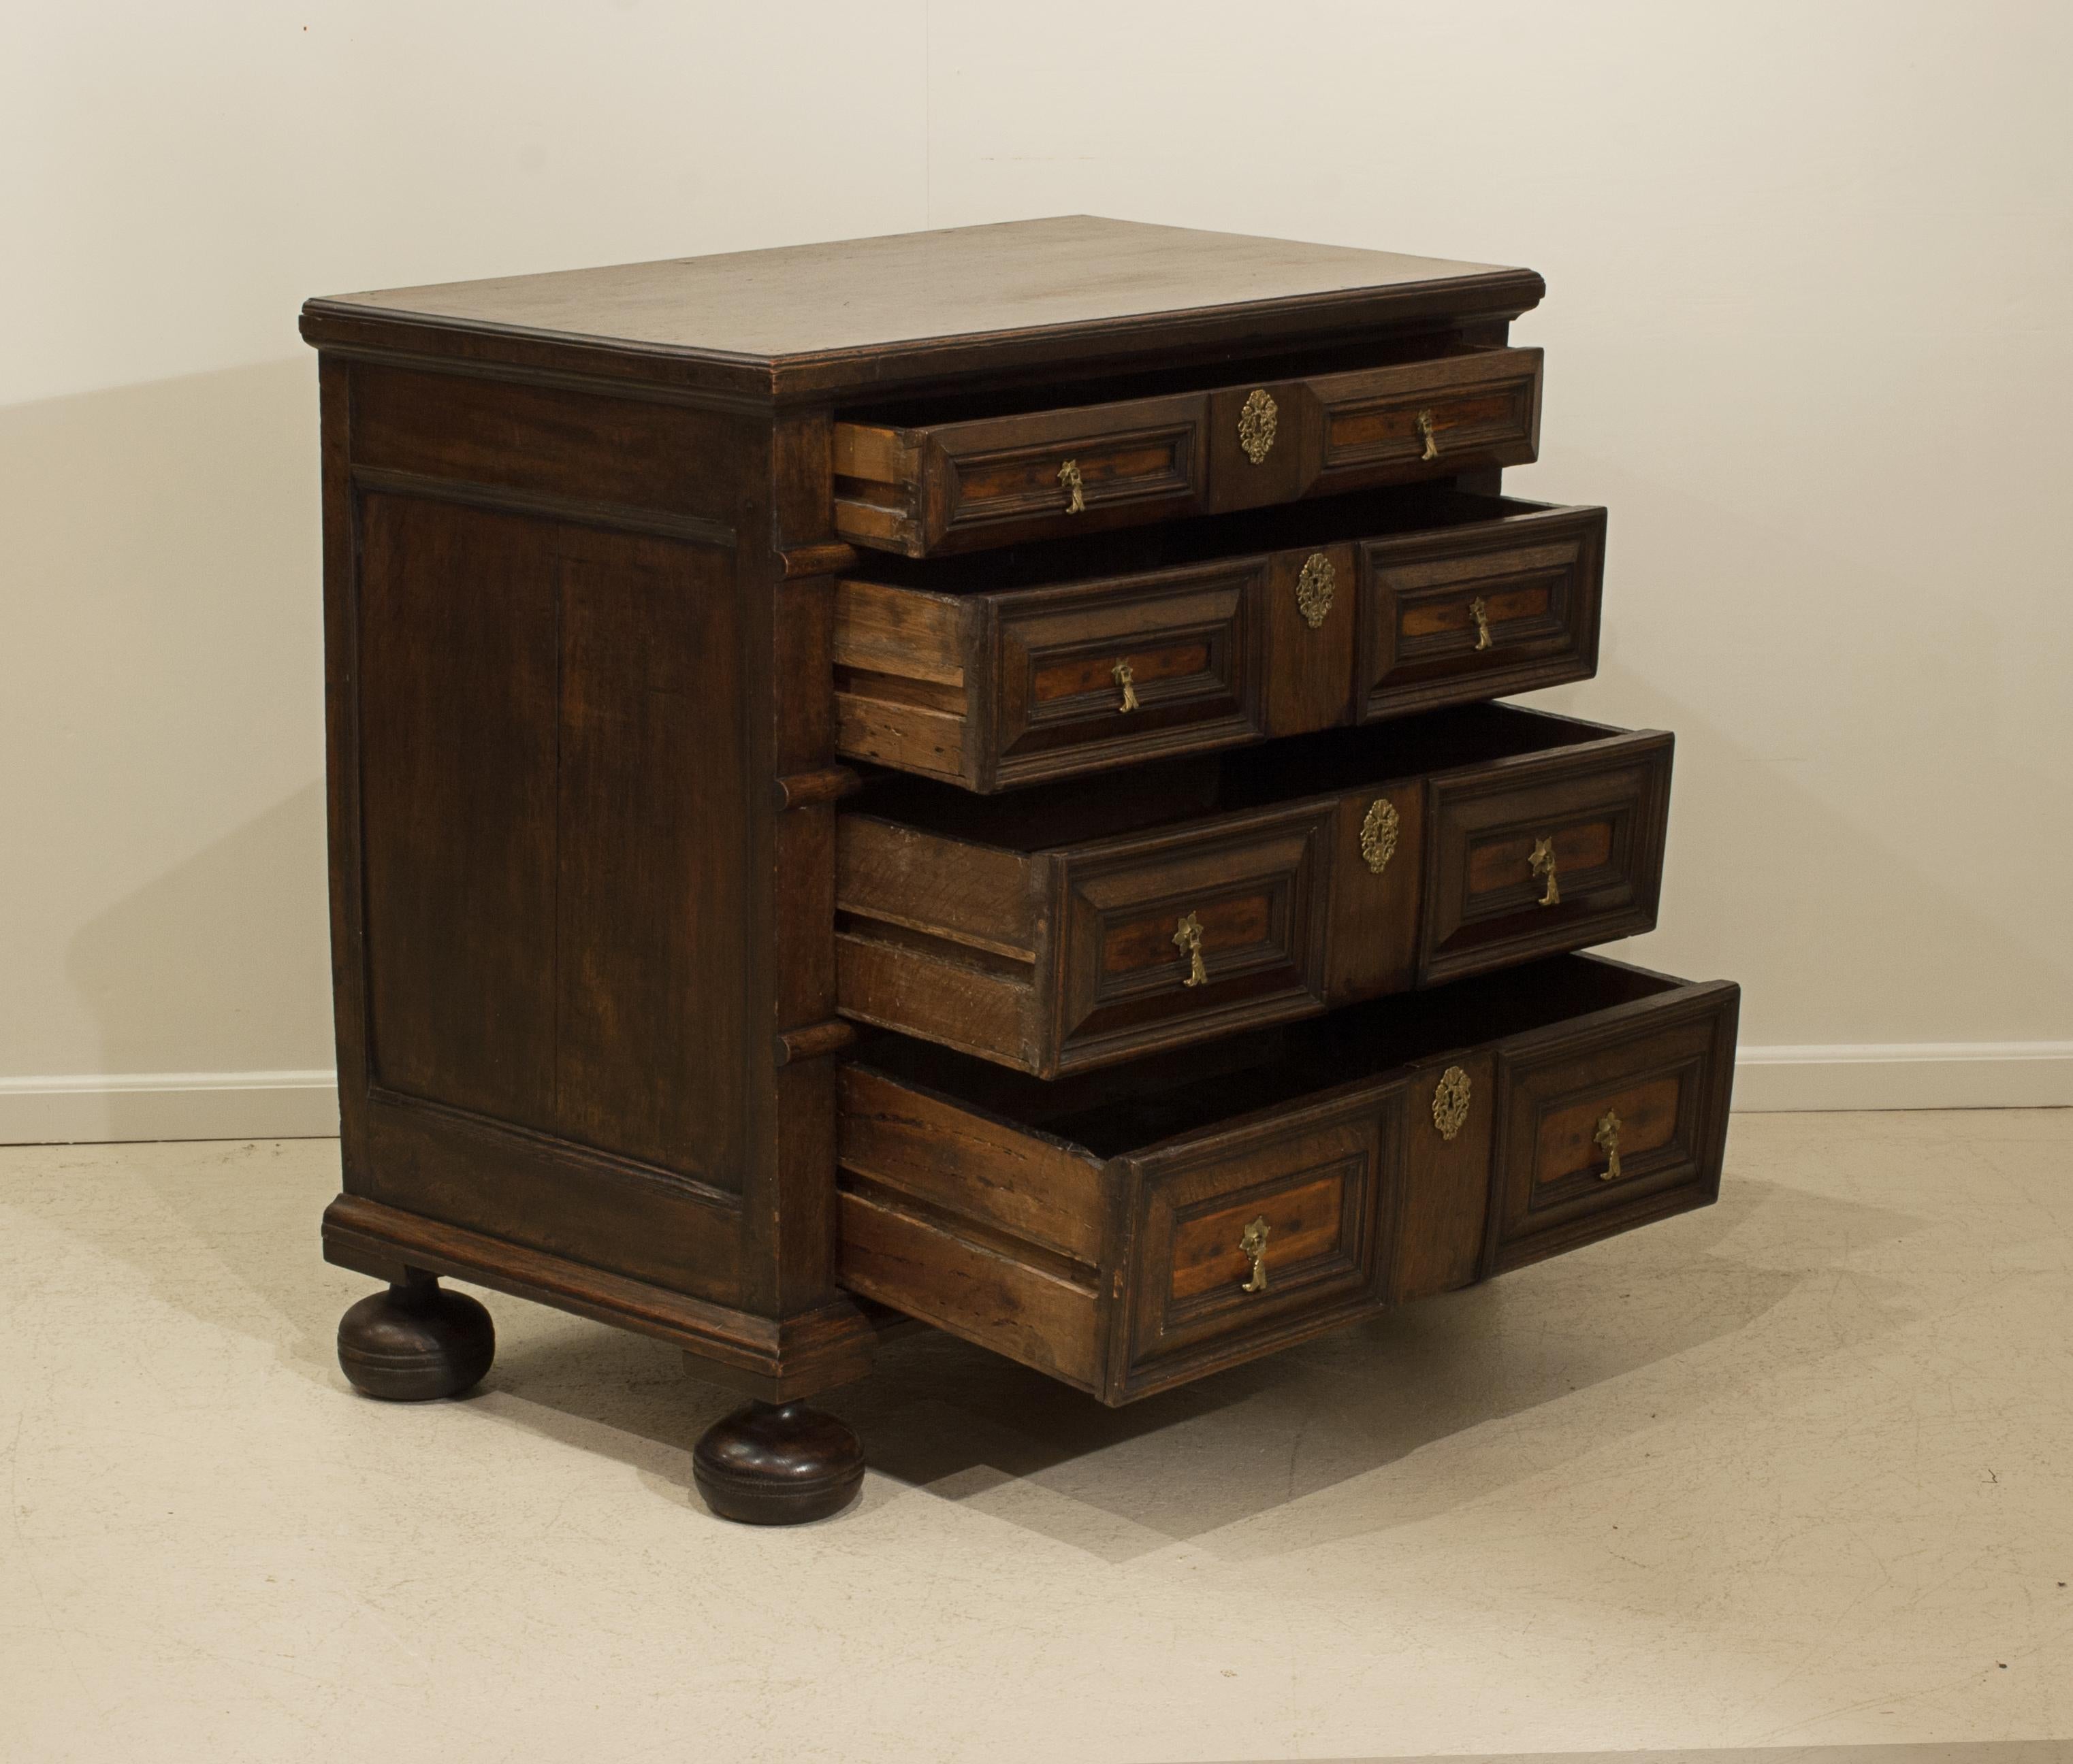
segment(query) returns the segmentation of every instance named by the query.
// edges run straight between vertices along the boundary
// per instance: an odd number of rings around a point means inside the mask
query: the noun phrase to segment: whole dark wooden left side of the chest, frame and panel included
[[[346,1190],[740,1304],[775,1182],[736,547],[767,419],[323,386]]]

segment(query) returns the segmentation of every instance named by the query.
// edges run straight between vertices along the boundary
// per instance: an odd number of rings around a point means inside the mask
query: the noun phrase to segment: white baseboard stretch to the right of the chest
[[[1735,1107],[1787,1109],[2067,1109],[2073,1041],[1884,1041],[1743,1047]]]

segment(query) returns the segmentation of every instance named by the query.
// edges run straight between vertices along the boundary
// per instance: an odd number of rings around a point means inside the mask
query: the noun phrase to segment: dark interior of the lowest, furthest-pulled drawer
[[[962,1107],[1109,1159],[1683,985],[1594,956],[1555,956],[1441,991],[1374,999],[1333,1016],[1051,1082],[885,1030],[867,1034],[856,1059],[939,1090]]]

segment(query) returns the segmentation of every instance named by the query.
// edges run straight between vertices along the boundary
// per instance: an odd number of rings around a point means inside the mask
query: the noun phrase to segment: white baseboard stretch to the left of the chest
[[[0,1144],[319,1140],[338,1132],[338,1080],[311,1072],[87,1072],[0,1078]]]

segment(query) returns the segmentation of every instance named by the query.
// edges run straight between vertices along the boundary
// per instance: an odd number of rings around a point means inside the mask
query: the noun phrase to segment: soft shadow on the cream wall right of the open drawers
[[[1613,510],[1600,667],[1526,703],[1677,736],[1663,929],[1611,954],[1739,980],[1745,1045],[2073,1034],[2073,951],[2023,908],[2046,786],[1976,713],[2003,638],[1880,616],[1884,564],[1615,460],[1522,493],[1580,483]]]

